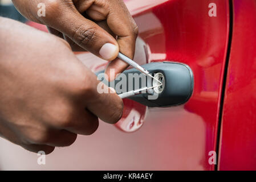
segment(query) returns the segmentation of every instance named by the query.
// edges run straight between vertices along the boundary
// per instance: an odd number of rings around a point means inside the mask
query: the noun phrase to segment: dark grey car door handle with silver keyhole
[[[194,89],[194,76],[192,69],[186,64],[164,61],[142,65],[152,76],[162,82],[162,86],[137,94],[129,99],[150,107],[167,107],[184,104],[192,96]],[[112,82],[105,80],[104,75],[96,75],[104,84],[115,88],[117,94],[143,88],[157,86],[159,82],[152,80],[137,71],[128,69],[117,76]]]

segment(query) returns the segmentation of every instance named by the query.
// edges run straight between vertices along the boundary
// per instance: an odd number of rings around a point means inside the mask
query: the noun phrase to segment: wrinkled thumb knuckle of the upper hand
[[[95,40],[96,30],[94,27],[88,28],[81,26],[74,34],[73,40],[82,46],[88,46]]]

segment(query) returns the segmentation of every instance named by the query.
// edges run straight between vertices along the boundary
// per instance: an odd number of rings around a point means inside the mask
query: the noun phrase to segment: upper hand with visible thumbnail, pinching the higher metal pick
[[[13,0],[13,3],[26,18],[46,24],[50,32],[65,38],[73,50],[83,48],[102,59],[113,60],[105,70],[108,77],[111,68],[117,75],[128,67],[116,59],[119,51],[133,59],[138,28],[123,0]],[[46,5],[45,17],[38,16],[39,3]]]

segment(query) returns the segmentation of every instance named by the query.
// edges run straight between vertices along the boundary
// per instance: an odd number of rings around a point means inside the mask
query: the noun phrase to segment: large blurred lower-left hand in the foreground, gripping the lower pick
[[[96,76],[64,40],[0,18],[0,135],[32,152],[50,154],[90,135],[98,118],[117,122],[123,102],[99,94]]]

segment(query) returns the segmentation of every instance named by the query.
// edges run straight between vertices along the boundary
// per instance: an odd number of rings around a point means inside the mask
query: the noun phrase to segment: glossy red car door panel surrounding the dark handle
[[[135,61],[189,65],[194,74],[190,100],[173,107],[147,107],[126,99],[123,118],[116,127],[101,122],[95,134],[79,136],[71,147],[48,155],[43,167],[34,162],[35,154],[1,140],[3,169],[214,170],[230,38],[229,1],[125,3],[140,32]],[[78,57],[95,72],[106,64],[90,53]],[[13,163],[7,160],[10,148],[17,152]]]

